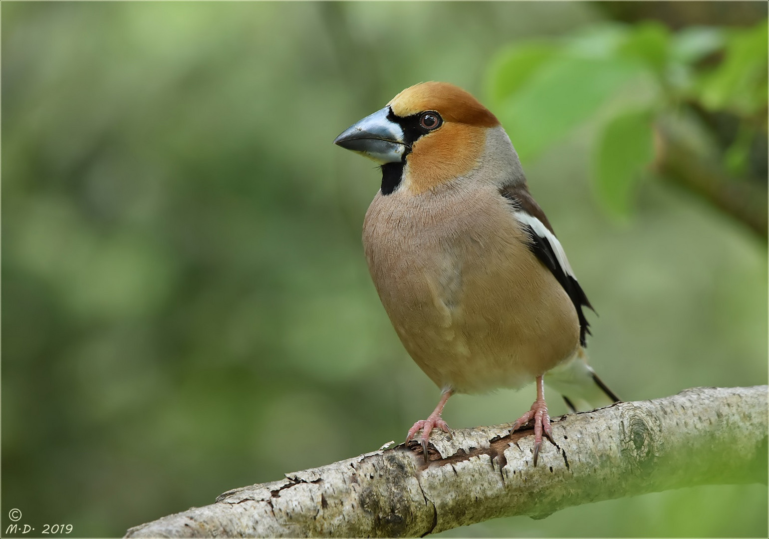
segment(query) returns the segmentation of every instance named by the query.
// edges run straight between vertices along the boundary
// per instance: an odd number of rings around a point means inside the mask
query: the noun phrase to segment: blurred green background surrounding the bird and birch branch
[[[3,2],[3,529],[16,507],[122,535],[432,410],[362,254],[378,171],[331,145],[421,81],[508,128],[614,391],[766,383],[765,55],[764,2]],[[691,184],[659,155],[668,127],[749,196],[724,210]],[[461,395],[444,418],[533,398]],[[444,535],[766,534],[749,485]]]

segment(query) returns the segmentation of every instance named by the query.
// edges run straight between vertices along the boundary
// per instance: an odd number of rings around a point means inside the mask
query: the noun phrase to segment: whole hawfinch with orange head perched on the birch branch
[[[422,82],[334,143],[381,169],[363,246],[398,338],[441,390],[406,437],[421,431],[425,461],[431,431],[451,436],[441,414],[453,394],[534,381],[536,399],[510,430],[534,421],[534,466],[543,435],[552,441],[545,378],[572,411],[619,401],[588,364],[592,305],[488,108],[448,82]]]

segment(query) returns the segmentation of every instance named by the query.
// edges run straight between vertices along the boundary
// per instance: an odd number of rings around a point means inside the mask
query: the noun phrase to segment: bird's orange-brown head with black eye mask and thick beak
[[[467,91],[423,82],[351,125],[334,143],[381,165],[382,195],[399,188],[420,194],[477,168],[491,131],[510,145],[498,119]]]

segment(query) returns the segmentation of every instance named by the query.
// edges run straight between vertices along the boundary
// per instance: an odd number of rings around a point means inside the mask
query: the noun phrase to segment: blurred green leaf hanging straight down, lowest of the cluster
[[[623,112],[608,122],[595,156],[598,198],[615,217],[630,214],[638,179],[653,157],[651,113]]]

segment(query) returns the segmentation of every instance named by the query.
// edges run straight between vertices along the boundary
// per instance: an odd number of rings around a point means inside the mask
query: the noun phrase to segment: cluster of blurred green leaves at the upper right
[[[637,182],[653,168],[655,127],[670,123],[697,141],[703,160],[750,176],[765,195],[766,66],[766,19],[679,32],[656,21],[611,22],[515,42],[495,58],[488,93],[524,162],[580,125],[598,124],[595,191],[612,215],[627,217]],[[707,115],[731,115],[734,135],[724,148]],[[764,237],[765,220],[764,212]]]

